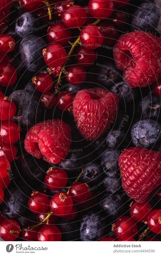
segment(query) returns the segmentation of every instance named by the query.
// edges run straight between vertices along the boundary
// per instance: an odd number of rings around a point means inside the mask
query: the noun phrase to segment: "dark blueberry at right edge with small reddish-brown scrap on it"
[[[157,96],[149,95],[144,97],[138,105],[138,113],[141,119],[160,120],[160,99]]]

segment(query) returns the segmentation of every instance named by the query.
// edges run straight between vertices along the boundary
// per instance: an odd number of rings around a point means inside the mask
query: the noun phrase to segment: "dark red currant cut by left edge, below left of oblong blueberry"
[[[13,85],[17,79],[17,71],[12,65],[0,66],[0,85],[8,87]]]

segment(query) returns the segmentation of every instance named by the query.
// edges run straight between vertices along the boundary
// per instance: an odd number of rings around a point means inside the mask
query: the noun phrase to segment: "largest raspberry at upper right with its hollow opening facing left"
[[[113,50],[117,68],[131,87],[153,84],[161,77],[161,39],[136,31],[120,36]]]

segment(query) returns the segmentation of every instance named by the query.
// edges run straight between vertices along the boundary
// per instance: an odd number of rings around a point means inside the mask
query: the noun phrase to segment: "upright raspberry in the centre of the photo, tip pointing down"
[[[109,129],[118,110],[118,96],[106,89],[81,90],[73,101],[73,115],[81,135],[89,141]]]

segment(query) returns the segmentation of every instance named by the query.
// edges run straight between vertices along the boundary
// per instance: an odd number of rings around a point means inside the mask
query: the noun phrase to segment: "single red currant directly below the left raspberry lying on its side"
[[[60,190],[68,182],[68,176],[65,170],[50,167],[45,176],[45,184],[51,190]]]

